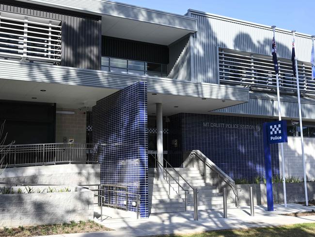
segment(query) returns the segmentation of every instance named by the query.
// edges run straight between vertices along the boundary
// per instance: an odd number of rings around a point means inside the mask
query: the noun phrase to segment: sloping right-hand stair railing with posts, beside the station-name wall
[[[209,158],[207,158],[202,152],[195,150],[190,152],[190,156],[192,157],[192,167],[194,167],[194,157],[198,158],[203,165],[205,180],[207,178],[206,168],[208,167],[210,170],[214,171],[218,175],[218,189],[219,192],[222,189],[221,181],[224,182],[227,186],[230,186],[234,195],[235,195],[235,205],[238,208],[238,191],[235,186],[235,182],[231,179],[226,173],[224,173],[219,167],[217,167]]]

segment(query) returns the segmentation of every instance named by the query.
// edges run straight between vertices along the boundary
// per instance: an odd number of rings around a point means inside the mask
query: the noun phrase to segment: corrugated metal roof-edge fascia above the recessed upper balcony
[[[28,2],[123,17],[190,31],[197,29],[196,20],[190,17],[108,0],[28,0]]]

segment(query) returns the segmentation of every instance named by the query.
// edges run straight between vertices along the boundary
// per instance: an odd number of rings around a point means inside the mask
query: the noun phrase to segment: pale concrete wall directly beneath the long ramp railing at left
[[[0,182],[68,186],[100,184],[100,166],[66,164],[7,168],[0,175]]]

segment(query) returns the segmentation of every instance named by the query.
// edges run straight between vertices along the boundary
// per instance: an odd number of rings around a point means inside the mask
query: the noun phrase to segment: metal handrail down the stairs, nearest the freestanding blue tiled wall
[[[177,194],[180,196],[180,189],[182,189],[185,193],[185,198],[184,198],[184,202],[185,202],[185,211],[187,210],[187,194],[189,194],[189,190],[184,188],[182,185],[180,185],[180,179],[184,181],[185,184],[187,184],[189,186],[189,188],[192,189],[193,192],[193,203],[194,203],[194,220],[198,220],[198,200],[197,200],[197,193],[198,193],[198,189],[194,188],[193,186],[191,186],[184,178],[182,175],[180,175],[180,173],[173,168],[173,166],[167,161],[165,160],[165,158],[163,157],[163,161],[166,162],[166,164],[168,164],[169,168],[172,169],[175,172],[176,178],[174,178],[174,176],[172,174],[170,174],[170,172],[157,160],[156,157],[156,153],[152,154],[151,152],[148,152],[148,154],[151,155],[152,158],[154,158],[155,160],[155,169],[157,170],[157,178],[159,178],[159,175],[161,175],[159,173],[159,167],[162,168],[162,175],[163,175],[163,179],[166,181],[166,183],[169,186],[169,194],[171,193],[171,179],[177,184],[178,186],[178,190],[177,190]],[[163,163],[164,163],[163,162]]]

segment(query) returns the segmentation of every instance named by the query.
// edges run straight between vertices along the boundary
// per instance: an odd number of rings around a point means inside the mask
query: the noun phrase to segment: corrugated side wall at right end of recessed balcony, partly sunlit
[[[191,80],[190,36],[169,45],[170,64],[167,67],[168,77],[177,80]]]

